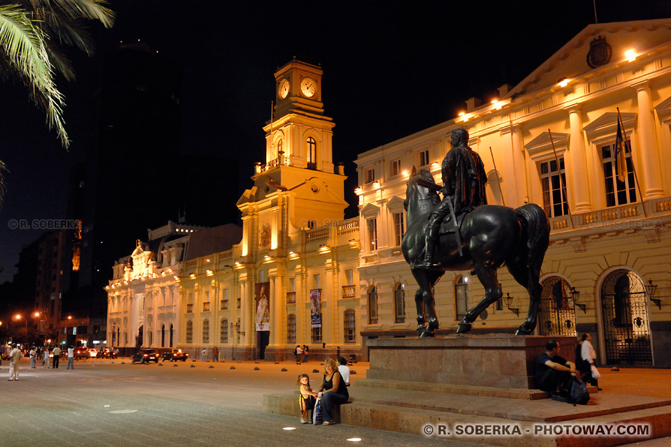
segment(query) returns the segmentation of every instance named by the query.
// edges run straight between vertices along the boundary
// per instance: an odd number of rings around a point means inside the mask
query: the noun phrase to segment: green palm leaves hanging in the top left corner
[[[55,84],[55,71],[68,80],[74,72],[58,43],[92,54],[93,45],[80,20],[98,20],[111,27],[114,13],[103,0],[17,0],[0,5],[0,52],[10,71],[30,89],[33,101],[47,114],[63,147],[70,141],[63,119],[64,97]]]

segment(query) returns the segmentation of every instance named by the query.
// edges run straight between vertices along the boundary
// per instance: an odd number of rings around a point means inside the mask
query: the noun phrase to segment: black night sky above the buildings
[[[470,96],[487,99],[500,85],[517,84],[594,22],[592,0],[509,1],[496,8],[447,1],[110,3],[115,27],[92,29],[99,52],[139,38],[181,67],[182,152],[238,159],[243,184],[235,195],[251,185],[244,179],[265,157],[261,127],[275,98],[274,71],[294,56],[321,64],[324,109],[336,124],[333,159],[345,162],[349,203],[356,154],[454,117]],[[597,0],[596,6],[599,22],[671,17],[668,0]],[[68,103],[69,152],[22,85],[0,85],[0,159],[10,170],[0,209],[0,282],[15,273],[22,246],[43,233],[10,229],[10,221],[64,217],[68,168],[90,144],[87,129],[98,125],[87,103],[99,78],[96,59],[72,54],[78,80],[59,84]],[[236,202],[213,200],[226,207]],[[355,214],[349,207],[347,216]]]

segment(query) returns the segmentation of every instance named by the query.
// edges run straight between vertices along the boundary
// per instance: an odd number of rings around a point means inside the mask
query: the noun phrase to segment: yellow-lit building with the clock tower
[[[192,312],[180,346],[216,346],[222,358],[238,360],[293,358],[297,344],[313,358],[360,355],[359,219],[343,220],[345,175],[333,164],[322,69],[294,59],[275,82],[266,162],[238,200],[242,240],[182,271]]]

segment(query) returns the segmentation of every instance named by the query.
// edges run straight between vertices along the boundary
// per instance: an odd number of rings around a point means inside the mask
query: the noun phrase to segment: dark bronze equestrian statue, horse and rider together
[[[469,270],[484,286],[484,298],[459,323],[460,334],[503,296],[496,270],[504,264],[529,293],[529,312],[516,333],[531,334],[542,292],[540,268],[549,244],[547,216],[533,203],[517,210],[487,205],[484,165],[468,147],[468,131],[452,131],[451,144],[442,161],[442,188],[428,170],[417,173],[413,168],[405,191],[407,230],[401,248],[419,284],[414,295],[417,334],[433,337],[438,329],[433,287],[447,270]]]

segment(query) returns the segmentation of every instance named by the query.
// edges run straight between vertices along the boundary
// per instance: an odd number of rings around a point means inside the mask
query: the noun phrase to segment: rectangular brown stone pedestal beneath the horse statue
[[[368,340],[367,379],[533,389],[533,363],[555,339],[573,361],[575,337],[486,334]]]

